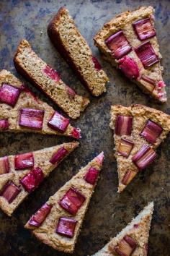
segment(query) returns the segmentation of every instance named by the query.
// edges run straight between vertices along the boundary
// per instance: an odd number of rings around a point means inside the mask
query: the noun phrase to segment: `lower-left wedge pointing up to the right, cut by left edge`
[[[79,142],[68,142],[0,158],[0,208],[12,216],[19,204],[69,155]]]

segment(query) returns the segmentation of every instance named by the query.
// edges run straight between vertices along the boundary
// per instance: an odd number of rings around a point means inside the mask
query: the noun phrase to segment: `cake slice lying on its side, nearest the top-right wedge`
[[[78,75],[91,94],[99,96],[106,91],[107,74],[95,68],[86,40],[77,29],[68,10],[62,7],[48,25],[48,35],[55,48]]]

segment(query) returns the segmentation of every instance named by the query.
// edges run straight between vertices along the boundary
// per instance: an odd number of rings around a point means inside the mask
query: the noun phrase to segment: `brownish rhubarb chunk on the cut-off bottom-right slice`
[[[130,236],[124,236],[123,239],[119,242],[115,251],[120,256],[130,256],[135,250],[137,244]]]

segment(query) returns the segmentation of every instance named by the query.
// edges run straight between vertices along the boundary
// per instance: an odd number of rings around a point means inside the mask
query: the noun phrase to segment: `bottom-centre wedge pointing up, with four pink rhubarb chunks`
[[[104,153],[100,153],[49,198],[24,226],[45,244],[72,253],[97,184]]]

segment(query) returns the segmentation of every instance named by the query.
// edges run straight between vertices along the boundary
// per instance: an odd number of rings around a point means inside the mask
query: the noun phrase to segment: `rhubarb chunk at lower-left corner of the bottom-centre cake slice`
[[[48,205],[47,203],[42,205],[42,207],[39,210],[37,210],[37,213],[35,213],[35,215],[33,215],[30,218],[30,221],[28,222],[29,225],[40,226],[42,222],[45,221],[45,218],[50,213],[50,210],[52,207],[53,207],[52,205]]]

